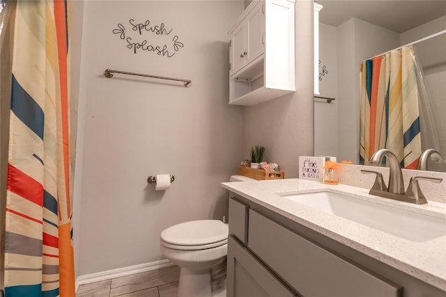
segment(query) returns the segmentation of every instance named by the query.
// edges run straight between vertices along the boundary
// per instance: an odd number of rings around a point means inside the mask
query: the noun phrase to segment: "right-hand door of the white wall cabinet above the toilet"
[[[245,51],[245,65],[252,62],[255,58],[263,54],[264,40],[263,35],[265,32],[265,15],[263,1],[254,7],[254,9],[247,15],[245,19],[246,26],[246,46]]]

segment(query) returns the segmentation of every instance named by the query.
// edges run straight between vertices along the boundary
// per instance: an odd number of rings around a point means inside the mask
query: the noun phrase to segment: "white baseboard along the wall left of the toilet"
[[[101,271],[86,275],[79,275],[76,278],[76,291],[81,284],[91,284],[92,282],[100,282],[101,280],[110,280],[112,278],[120,278],[121,276],[132,275],[146,271],[153,271],[164,267],[174,266],[175,264],[168,259],[128,266],[123,268],[116,268],[108,271]]]

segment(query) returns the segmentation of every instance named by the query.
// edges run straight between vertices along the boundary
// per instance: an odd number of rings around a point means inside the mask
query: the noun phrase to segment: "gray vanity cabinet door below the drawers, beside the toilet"
[[[228,238],[228,297],[296,296],[232,235]]]

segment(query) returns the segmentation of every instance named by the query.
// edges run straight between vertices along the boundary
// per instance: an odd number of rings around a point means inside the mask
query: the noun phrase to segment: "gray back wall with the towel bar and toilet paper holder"
[[[163,259],[164,228],[226,215],[220,182],[229,180],[243,156],[243,108],[228,104],[227,31],[243,9],[243,1],[85,1],[77,275]],[[144,30],[137,35],[129,19],[164,23],[172,32],[169,38]],[[184,47],[171,58],[134,54],[112,32],[118,23],[134,40],[172,47],[178,35]],[[119,74],[107,79],[107,68],[192,79],[192,86]],[[161,173],[175,175],[167,191],[146,182]]]

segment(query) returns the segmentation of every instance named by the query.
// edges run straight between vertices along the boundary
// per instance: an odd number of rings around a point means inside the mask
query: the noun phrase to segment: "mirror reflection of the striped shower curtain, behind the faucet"
[[[362,61],[362,164],[387,148],[397,155],[401,168],[417,169],[422,149],[416,71],[412,46]]]

